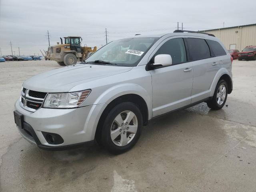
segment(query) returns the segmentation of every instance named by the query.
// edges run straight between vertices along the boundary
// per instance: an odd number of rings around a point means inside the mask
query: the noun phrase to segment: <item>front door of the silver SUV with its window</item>
[[[193,68],[187,62],[186,48],[182,37],[164,40],[156,52],[170,54],[172,65],[150,70],[152,76],[153,117],[181,108],[191,103]]]

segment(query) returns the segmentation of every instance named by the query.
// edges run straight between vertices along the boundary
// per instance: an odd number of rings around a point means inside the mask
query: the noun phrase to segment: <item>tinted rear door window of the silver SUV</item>
[[[210,49],[204,39],[187,38],[191,60],[210,58]]]

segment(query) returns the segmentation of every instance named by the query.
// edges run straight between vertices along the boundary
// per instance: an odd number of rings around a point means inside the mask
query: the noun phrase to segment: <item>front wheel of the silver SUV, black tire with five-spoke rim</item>
[[[123,102],[108,112],[102,125],[101,143],[111,153],[131,149],[140,137],[142,114],[132,102]]]

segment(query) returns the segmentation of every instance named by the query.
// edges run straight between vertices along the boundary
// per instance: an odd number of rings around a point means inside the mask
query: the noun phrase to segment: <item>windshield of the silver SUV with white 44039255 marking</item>
[[[85,62],[101,60],[117,66],[136,66],[159,38],[127,38],[110,42]]]

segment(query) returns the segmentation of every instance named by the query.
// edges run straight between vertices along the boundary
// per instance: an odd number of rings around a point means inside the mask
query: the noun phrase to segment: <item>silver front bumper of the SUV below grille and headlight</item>
[[[17,100],[15,109],[24,117],[24,129],[18,127],[18,131],[28,142],[39,148],[64,150],[76,147],[94,140],[98,120],[105,107],[106,104],[98,104],[74,109],[40,108],[36,112],[29,112]],[[50,144],[42,132],[58,134],[64,142]]]

